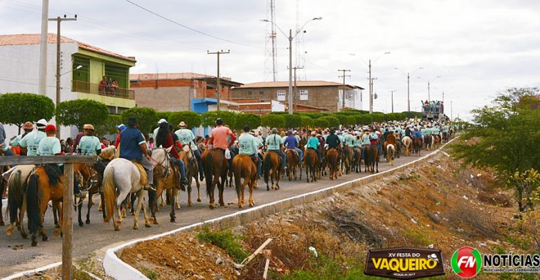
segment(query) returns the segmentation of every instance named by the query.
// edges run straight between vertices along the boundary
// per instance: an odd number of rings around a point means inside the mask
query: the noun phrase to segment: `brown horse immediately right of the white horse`
[[[163,156],[162,153],[165,155]],[[166,149],[160,148],[155,149],[152,151],[152,156],[155,156],[156,158],[165,158],[162,162],[158,162],[156,167],[154,167],[154,188],[156,191],[150,191],[148,192],[148,205],[150,208],[150,214],[152,216],[152,223],[154,225],[158,224],[158,221],[156,219],[156,208],[157,208],[157,198],[161,197],[163,194],[163,190],[165,189],[165,192],[170,192],[170,222],[174,223],[176,221],[176,214],[174,213],[174,203],[177,199],[177,190],[176,181],[180,180],[180,178],[174,178],[174,168],[172,167],[170,163],[170,159],[168,158],[168,152]]]

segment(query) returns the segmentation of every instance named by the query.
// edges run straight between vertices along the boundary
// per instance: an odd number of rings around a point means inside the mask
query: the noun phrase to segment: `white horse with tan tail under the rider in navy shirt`
[[[161,165],[163,162],[169,160],[169,149],[156,149],[152,151],[152,164]],[[141,185],[141,174],[133,162],[124,158],[115,158],[111,160],[107,167],[105,167],[105,174],[103,175],[103,191],[105,193],[105,207],[107,208],[107,218],[105,222],[113,220],[114,230],[120,230],[122,224],[122,215],[120,214],[120,204],[123,200],[132,193],[137,194],[137,207],[135,210],[135,216],[133,217],[133,229],[138,230],[138,212],[143,207],[143,200],[147,193]],[[116,190],[118,189],[118,196],[116,196]],[[150,227],[150,221],[146,214],[146,207],[143,207],[143,213],[145,218],[145,227]],[[116,221],[116,219],[118,221]]]

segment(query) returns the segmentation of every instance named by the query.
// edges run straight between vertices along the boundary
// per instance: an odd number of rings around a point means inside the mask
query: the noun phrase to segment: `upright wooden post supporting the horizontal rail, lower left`
[[[64,199],[62,203],[63,225],[62,233],[62,279],[71,280],[73,278],[73,259],[71,256],[73,234],[73,163],[69,162],[64,165]]]

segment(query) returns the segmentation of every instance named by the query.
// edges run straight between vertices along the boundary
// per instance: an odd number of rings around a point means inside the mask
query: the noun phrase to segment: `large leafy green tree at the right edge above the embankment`
[[[540,110],[531,103],[539,92],[538,88],[509,88],[498,93],[491,105],[472,111],[473,121],[462,135],[466,141],[451,146],[465,163],[494,169],[501,183],[514,189],[520,211],[525,211],[527,203],[521,203],[519,180],[510,179],[516,172],[540,170],[540,131],[536,129]]]

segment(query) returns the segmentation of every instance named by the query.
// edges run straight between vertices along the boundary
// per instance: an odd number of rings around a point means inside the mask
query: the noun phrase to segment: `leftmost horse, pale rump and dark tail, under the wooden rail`
[[[21,236],[24,239],[28,238],[28,234],[24,231],[23,218],[24,212],[26,212],[26,183],[34,167],[35,165],[19,165],[10,174],[7,208],[10,213],[8,236],[13,232],[13,228],[17,227]]]

